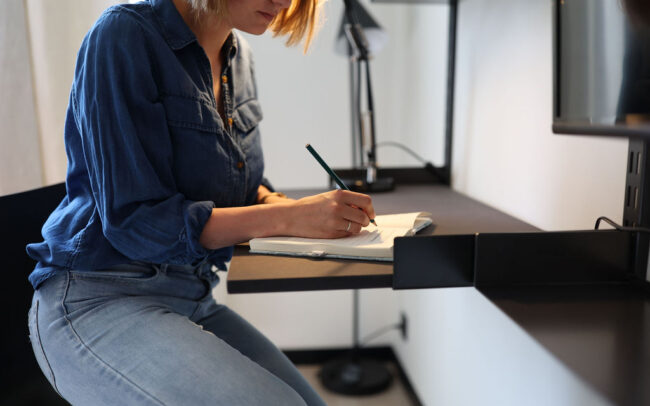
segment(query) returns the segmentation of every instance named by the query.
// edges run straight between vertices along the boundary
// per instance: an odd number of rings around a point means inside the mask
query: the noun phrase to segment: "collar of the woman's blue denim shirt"
[[[173,50],[186,47],[196,41],[196,36],[185,24],[176,6],[171,0],[150,0],[154,14],[162,26],[163,36]],[[237,55],[237,36],[231,32],[226,43],[227,61],[230,62]]]

